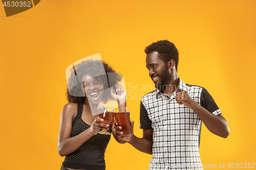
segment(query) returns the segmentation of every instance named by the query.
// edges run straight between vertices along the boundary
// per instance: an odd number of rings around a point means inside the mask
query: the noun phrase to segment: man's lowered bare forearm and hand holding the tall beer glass
[[[133,145],[134,148],[137,150],[147,153],[147,154],[152,154],[152,145],[153,145],[153,129],[143,129],[143,137],[138,138],[133,134],[133,125],[134,122],[131,121],[132,124],[132,134],[128,134],[125,136],[121,136],[122,132],[119,130],[122,128],[115,123],[115,133],[116,137],[119,140],[122,140],[124,142],[128,142]]]

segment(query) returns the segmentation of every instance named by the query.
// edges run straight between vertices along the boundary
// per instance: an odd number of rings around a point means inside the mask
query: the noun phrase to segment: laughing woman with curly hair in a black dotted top
[[[99,69],[102,64],[104,70]],[[71,71],[75,74],[71,74],[68,81],[68,87],[72,89],[67,89],[69,103],[63,107],[58,136],[58,153],[66,156],[61,170],[105,169],[104,153],[111,135],[97,132],[108,130],[119,143],[123,141],[117,139],[114,126],[99,123],[102,119],[93,113],[101,108],[101,102],[110,100],[125,107],[126,91],[122,87],[110,88],[110,82],[117,84],[121,77],[101,60],[83,61]]]

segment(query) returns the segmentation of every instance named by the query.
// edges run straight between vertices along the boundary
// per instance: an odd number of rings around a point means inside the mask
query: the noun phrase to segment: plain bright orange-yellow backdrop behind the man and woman
[[[123,74],[135,135],[142,137],[138,95],[153,85],[144,48],[163,39],[179,50],[179,77],[205,87],[229,123],[226,139],[203,125],[203,165],[256,163],[255,20],[254,0],[44,0],[10,17],[0,7],[0,169],[60,169],[65,70],[97,53]],[[107,170],[143,170],[151,155],[112,137],[105,159]]]

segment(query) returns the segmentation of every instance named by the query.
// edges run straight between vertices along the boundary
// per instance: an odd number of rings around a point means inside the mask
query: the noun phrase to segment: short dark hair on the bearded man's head
[[[159,59],[161,59],[166,64],[173,59],[175,62],[176,71],[178,70],[179,52],[174,43],[168,40],[153,42],[145,48],[144,52],[146,55],[152,52],[158,52]]]

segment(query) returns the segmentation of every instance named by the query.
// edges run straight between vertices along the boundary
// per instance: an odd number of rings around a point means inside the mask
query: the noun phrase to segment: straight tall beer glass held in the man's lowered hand
[[[122,127],[122,129],[119,130],[123,132],[121,136],[131,134],[132,132],[129,107],[116,108],[114,112],[118,126]]]

